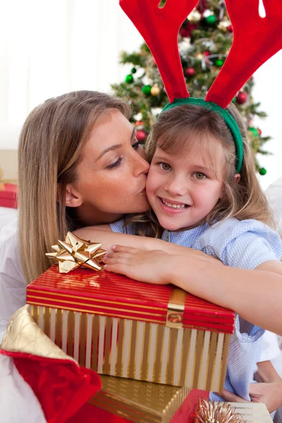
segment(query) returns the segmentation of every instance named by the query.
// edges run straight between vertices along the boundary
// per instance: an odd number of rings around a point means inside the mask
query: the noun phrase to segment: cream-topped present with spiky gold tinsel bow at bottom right
[[[262,403],[216,403],[200,398],[190,423],[271,423],[272,419]]]

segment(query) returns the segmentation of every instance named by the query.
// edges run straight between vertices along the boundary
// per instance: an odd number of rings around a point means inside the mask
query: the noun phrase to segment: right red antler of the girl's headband
[[[234,39],[206,101],[225,108],[245,82],[282,48],[282,1],[264,0],[266,17],[259,16],[259,0],[226,0]]]

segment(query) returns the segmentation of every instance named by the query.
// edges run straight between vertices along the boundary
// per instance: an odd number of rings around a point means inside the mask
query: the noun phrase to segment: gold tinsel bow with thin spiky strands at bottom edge
[[[191,423],[246,423],[246,420],[228,403],[215,403],[200,398]]]

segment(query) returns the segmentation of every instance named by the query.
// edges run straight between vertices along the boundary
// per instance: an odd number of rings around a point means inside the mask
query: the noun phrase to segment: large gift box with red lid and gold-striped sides
[[[99,374],[220,392],[234,313],[173,286],[54,265],[27,286],[39,327]]]

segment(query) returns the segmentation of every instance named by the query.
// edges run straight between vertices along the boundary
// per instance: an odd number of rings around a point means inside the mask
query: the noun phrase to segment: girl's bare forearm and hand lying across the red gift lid
[[[173,283],[197,297],[233,309],[252,324],[282,335],[282,264],[269,261],[255,270],[237,269],[190,255],[114,248],[105,269],[138,281]]]

